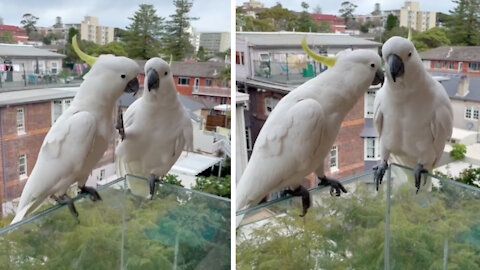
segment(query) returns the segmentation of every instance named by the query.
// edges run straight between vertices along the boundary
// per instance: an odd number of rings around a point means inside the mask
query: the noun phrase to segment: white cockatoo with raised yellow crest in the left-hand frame
[[[90,194],[92,200],[101,199],[97,191],[85,183],[114,134],[117,100],[124,92],[138,90],[140,68],[126,57],[86,55],[78,48],[76,37],[73,46],[91,70],[84,76],[70,107],[45,136],[12,224],[34,211],[49,196],[67,204],[72,214],[78,216],[66,195],[74,183],[78,183],[81,193]]]

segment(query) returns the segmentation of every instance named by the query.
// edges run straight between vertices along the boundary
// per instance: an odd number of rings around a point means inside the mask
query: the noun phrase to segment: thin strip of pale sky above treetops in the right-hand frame
[[[276,5],[277,2],[280,2],[283,7],[290,10],[302,11],[300,4],[302,2],[307,2],[310,5],[310,11],[315,8],[317,5],[322,8],[322,13],[325,14],[338,14],[340,9],[340,4],[346,0],[329,0],[329,1],[319,1],[319,0],[260,0],[264,3],[266,7],[271,7]],[[380,3],[380,8],[383,10],[389,9],[400,9],[403,7],[405,1],[399,0],[349,0],[358,7],[355,9],[355,14],[367,14],[373,11],[374,4]],[[236,6],[241,6],[244,2],[248,0],[236,0]],[[453,9],[455,4],[451,0],[416,0],[420,2],[420,9],[424,11],[435,11],[448,13],[448,10]]]

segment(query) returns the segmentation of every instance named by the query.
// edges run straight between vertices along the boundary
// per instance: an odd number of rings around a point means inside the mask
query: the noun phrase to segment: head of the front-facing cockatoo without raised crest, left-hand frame
[[[145,63],[145,84],[143,92],[145,96],[149,95],[152,97],[176,93],[170,65],[163,59],[154,57]]]

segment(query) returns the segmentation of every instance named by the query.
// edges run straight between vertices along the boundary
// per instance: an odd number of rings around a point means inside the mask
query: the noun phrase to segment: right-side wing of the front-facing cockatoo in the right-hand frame
[[[442,157],[445,143],[452,136],[452,128],[452,108],[449,104],[443,104],[442,106],[436,108],[432,122],[430,123],[430,130],[433,137],[433,148],[435,150],[435,161],[433,163],[433,167],[435,167],[437,161]]]

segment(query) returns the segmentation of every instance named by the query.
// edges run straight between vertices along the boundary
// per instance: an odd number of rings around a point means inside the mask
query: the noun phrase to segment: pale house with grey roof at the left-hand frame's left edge
[[[2,81],[38,80],[43,75],[58,75],[66,56],[27,45],[0,44]],[[42,79],[42,78],[40,78]]]

